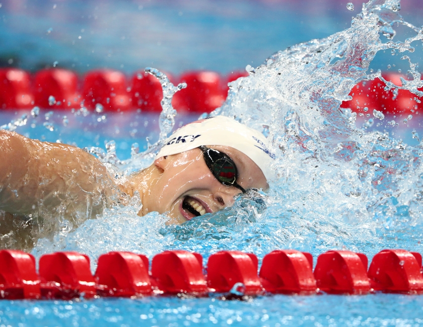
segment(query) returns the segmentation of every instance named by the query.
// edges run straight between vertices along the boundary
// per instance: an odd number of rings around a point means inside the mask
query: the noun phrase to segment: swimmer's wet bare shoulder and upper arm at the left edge
[[[66,213],[92,210],[113,189],[104,165],[84,150],[0,130],[0,210],[24,215],[41,205],[47,210],[62,205]]]

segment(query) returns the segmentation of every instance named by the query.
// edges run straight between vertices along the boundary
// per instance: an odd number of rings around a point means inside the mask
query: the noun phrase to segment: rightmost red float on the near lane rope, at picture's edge
[[[368,275],[372,288],[376,291],[423,292],[419,253],[383,250],[373,258]]]

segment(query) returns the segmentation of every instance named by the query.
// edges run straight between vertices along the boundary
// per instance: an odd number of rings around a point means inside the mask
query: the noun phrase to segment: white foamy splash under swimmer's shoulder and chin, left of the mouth
[[[65,224],[54,237],[39,240],[32,253],[40,257],[46,252],[62,249],[79,251],[93,259],[93,271],[96,266],[95,259],[102,253],[131,251],[152,256],[171,244],[173,236],[160,233],[165,227],[167,217],[153,212],[140,218],[137,213],[141,206],[135,196],[128,205],[106,209],[97,219],[87,220],[70,233]]]

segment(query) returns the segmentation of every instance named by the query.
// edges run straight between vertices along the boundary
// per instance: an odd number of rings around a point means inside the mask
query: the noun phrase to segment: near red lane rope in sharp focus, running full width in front
[[[260,270],[254,254],[221,251],[208,258],[187,251],[165,251],[151,266],[144,255],[109,252],[98,258],[94,276],[90,259],[77,252],[43,255],[39,272],[32,255],[0,251],[0,297],[5,299],[70,299],[180,295],[254,296],[386,293],[423,294],[421,255],[383,250],[368,268],[367,256],[328,251],[317,258],[296,250],[276,250],[263,258]],[[204,274],[206,271],[206,274]]]

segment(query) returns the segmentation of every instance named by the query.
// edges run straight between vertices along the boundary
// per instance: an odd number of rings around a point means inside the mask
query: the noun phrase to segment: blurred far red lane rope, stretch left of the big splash
[[[190,71],[178,78],[168,74],[174,84],[188,87],[173,98],[179,112],[212,112],[228,94],[228,83],[247,72],[222,76],[214,71]],[[31,75],[17,68],[0,68],[0,109],[70,109],[85,106],[107,111],[141,109],[161,112],[163,92],[159,80],[144,71],[130,79],[118,70],[102,69],[86,73],[82,80],[71,70],[42,69]]]

